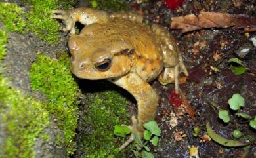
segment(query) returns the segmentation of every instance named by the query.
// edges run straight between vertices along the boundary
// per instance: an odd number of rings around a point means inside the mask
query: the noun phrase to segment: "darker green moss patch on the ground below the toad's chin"
[[[84,127],[90,133],[80,138],[86,158],[122,157],[117,149],[121,141],[114,136],[114,125],[127,124],[128,102],[116,91],[104,91],[87,96],[87,113],[83,117]],[[89,126],[89,127],[88,127]]]

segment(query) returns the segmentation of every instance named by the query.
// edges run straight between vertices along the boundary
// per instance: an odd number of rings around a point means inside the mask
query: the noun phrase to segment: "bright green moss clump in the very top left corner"
[[[9,31],[24,33],[24,14],[25,12],[15,3],[0,3],[0,20]]]

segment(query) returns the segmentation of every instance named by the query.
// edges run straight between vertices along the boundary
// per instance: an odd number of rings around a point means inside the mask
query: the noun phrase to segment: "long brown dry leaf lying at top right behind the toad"
[[[245,31],[256,30],[256,18],[243,14],[232,15],[219,12],[203,12],[196,16],[189,14],[171,18],[172,29],[182,29],[182,33],[202,28],[244,28]]]

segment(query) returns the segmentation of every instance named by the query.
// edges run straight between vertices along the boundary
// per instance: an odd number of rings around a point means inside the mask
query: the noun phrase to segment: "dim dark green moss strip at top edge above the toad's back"
[[[96,9],[105,11],[128,10],[130,8],[129,3],[125,0],[90,0],[90,4],[91,7],[96,6]]]

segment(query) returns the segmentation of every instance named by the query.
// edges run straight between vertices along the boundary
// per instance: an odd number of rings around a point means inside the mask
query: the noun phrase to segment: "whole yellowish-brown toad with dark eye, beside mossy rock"
[[[131,137],[119,149],[125,148],[142,125],[154,120],[158,94],[148,82],[175,83],[179,92],[179,73],[188,72],[181,53],[169,31],[144,24],[143,17],[133,12],[108,14],[101,10],[77,8],[53,10],[52,18],[66,24],[70,31],[68,48],[72,55],[71,71],[81,79],[107,79],[123,87],[137,100],[137,119],[132,117]],[[75,35],[75,22],[85,25]]]

